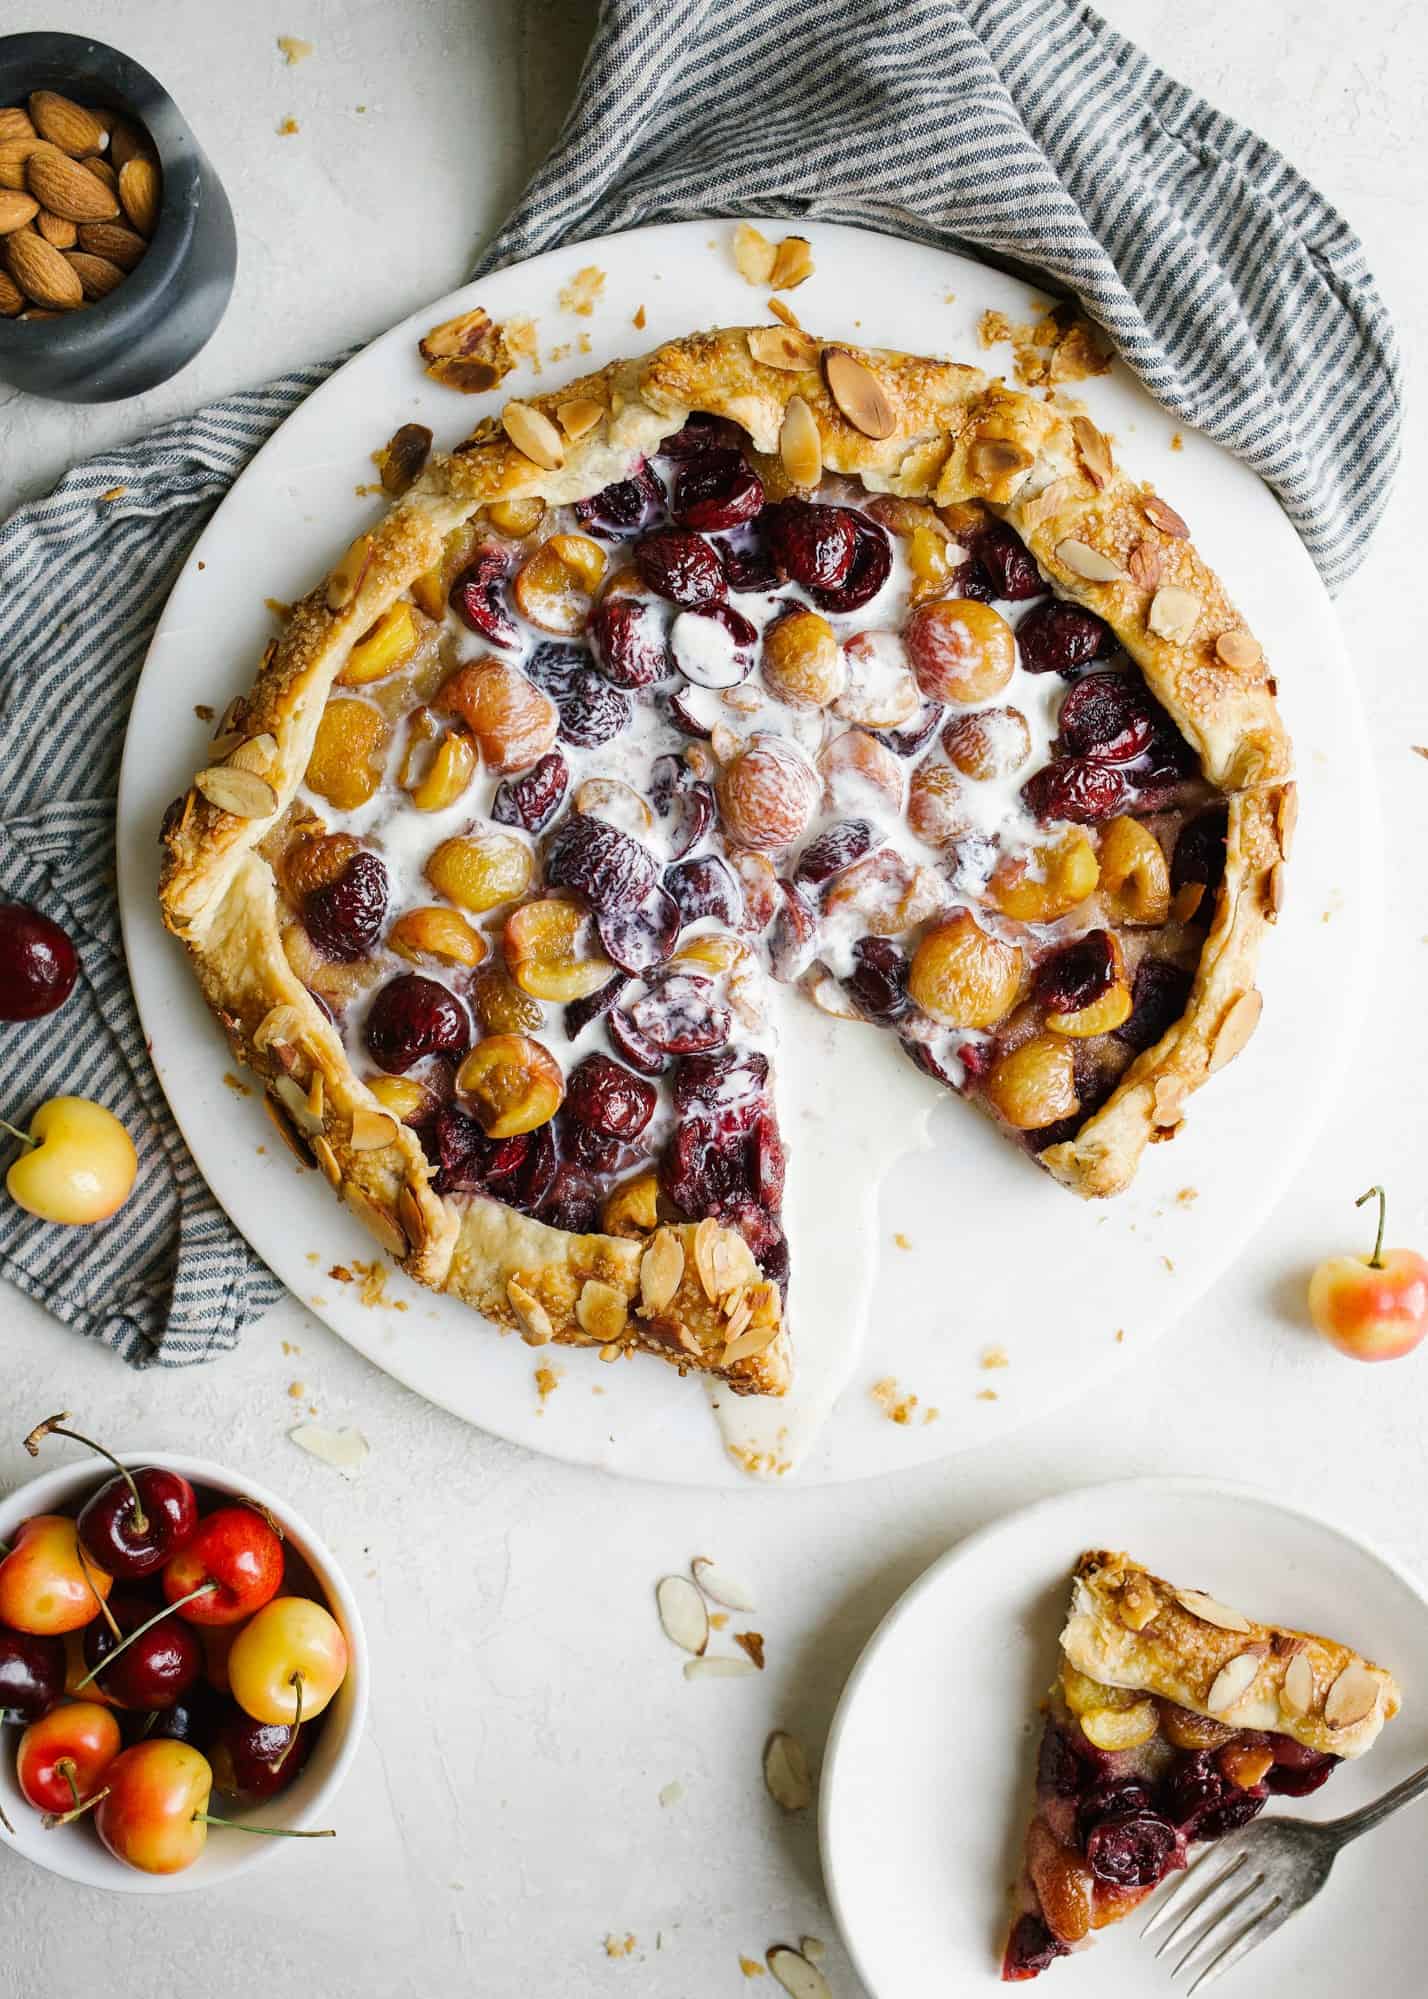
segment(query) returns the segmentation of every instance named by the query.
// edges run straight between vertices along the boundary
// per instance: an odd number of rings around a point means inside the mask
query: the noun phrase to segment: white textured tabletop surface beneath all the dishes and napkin
[[[1416,0],[1102,8],[1318,178],[1364,236],[1412,366],[1428,320]],[[0,392],[0,512],[98,444],[376,334],[456,284],[554,134],[590,18],[586,0],[68,0],[26,22],[98,34],[162,78],[224,178],[244,262],[208,350],[152,396],[66,412]],[[286,68],[278,34],[306,36],[314,56]],[[292,138],[276,134],[286,116]],[[1428,764],[1408,748],[1428,742],[1426,460],[1410,410],[1396,506],[1340,600],[1388,828],[1390,944],[1362,968],[1374,1031],[1324,1047],[1340,1109],[1264,1239],[1094,1401],[1010,1449],[876,1487],[676,1493],[492,1443],[296,1303],[228,1361],[140,1377],[0,1293],[0,1479],[24,1475],[20,1435],[60,1405],[120,1441],[246,1465],[352,1573],[376,1681],[336,1845],[296,1845],[192,1903],[118,1901],[0,1855],[2,1999],[744,1993],[740,1951],[832,1935],[812,1827],[778,1821],[762,1793],[764,1733],[822,1741],[882,1611],[968,1527],[1088,1479],[1222,1473],[1332,1509],[1428,1571],[1428,1357],[1356,1369],[1300,1315],[1306,1267],[1358,1247],[1350,1203],[1370,1181],[1392,1189],[1392,1235],[1428,1245]],[[1286,1127],[1294,1115],[1286,1101]],[[292,1381],[324,1421],[370,1435],[358,1485],[286,1441]],[[654,1627],[652,1581],[696,1551],[758,1583],[756,1681],[686,1685]],[[672,1779],[684,1797],[662,1807]],[[612,1931],[636,1935],[628,1959],[606,1957]],[[828,1969],[838,1999],[856,1999],[836,1949]]]

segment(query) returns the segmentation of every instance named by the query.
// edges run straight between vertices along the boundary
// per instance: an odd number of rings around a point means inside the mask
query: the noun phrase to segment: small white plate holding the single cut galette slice
[[[1038,1705],[1056,1673],[1070,1569],[1088,1547],[1128,1549],[1158,1575],[1394,1669],[1404,1705],[1378,1743],[1322,1791],[1272,1799],[1270,1811],[1332,1819],[1428,1763],[1428,1597],[1388,1555],[1246,1485],[1128,1479],[1044,1499],[932,1563],[878,1625],[834,1715],[820,1779],[824,1879],[870,1999],[996,1987]],[[1226,1979],[1226,1999],[1420,1991],[1424,1827],[1420,1803],[1348,1847],[1312,1907]],[[1152,1969],[1144,1919],[1058,1959],[1036,1981],[1038,1999],[1168,1995],[1170,1965]]]

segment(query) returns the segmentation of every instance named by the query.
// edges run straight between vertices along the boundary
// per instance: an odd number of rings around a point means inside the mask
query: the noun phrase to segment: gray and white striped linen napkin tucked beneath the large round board
[[[820,216],[1034,270],[1274,488],[1330,590],[1362,562],[1402,424],[1362,246],[1092,8],[604,0],[560,140],[478,274],[716,214]],[[0,528],[0,896],[56,916],[82,958],[58,1033],[0,1027],[0,1107],[96,1095],[140,1147],[138,1189],[102,1229],[0,1211],[0,1271],[136,1365],[232,1347],[280,1285],[208,1193],[144,1053],[112,894],[120,724],[208,514],[332,366],[80,466]]]

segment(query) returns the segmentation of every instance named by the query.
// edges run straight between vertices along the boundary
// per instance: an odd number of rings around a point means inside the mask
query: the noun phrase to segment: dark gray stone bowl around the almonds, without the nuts
[[[0,104],[32,90],[144,126],[164,194],[144,260],[108,298],[58,320],[0,318],[0,382],[50,402],[120,402],[176,376],[222,320],[238,270],[232,208],[170,94],[118,48],[82,34],[0,36]]]

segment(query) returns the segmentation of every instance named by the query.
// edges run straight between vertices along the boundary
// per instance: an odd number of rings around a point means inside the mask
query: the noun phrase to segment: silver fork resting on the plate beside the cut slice
[[[1344,1819],[1250,1819],[1238,1833],[1226,1833],[1206,1849],[1140,1935],[1166,1931],[1166,1923],[1178,1915],[1156,1957],[1180,1939],[1186,1951],[1170,1977],[1178,1979],[1186,1971],[1194,1979],[1190,1993],[1202,1991],[1272,1937],[1296,1909],[1314,1901],[1350,1839],[1380,1825],[1424,1791],[1428,1765]]]

